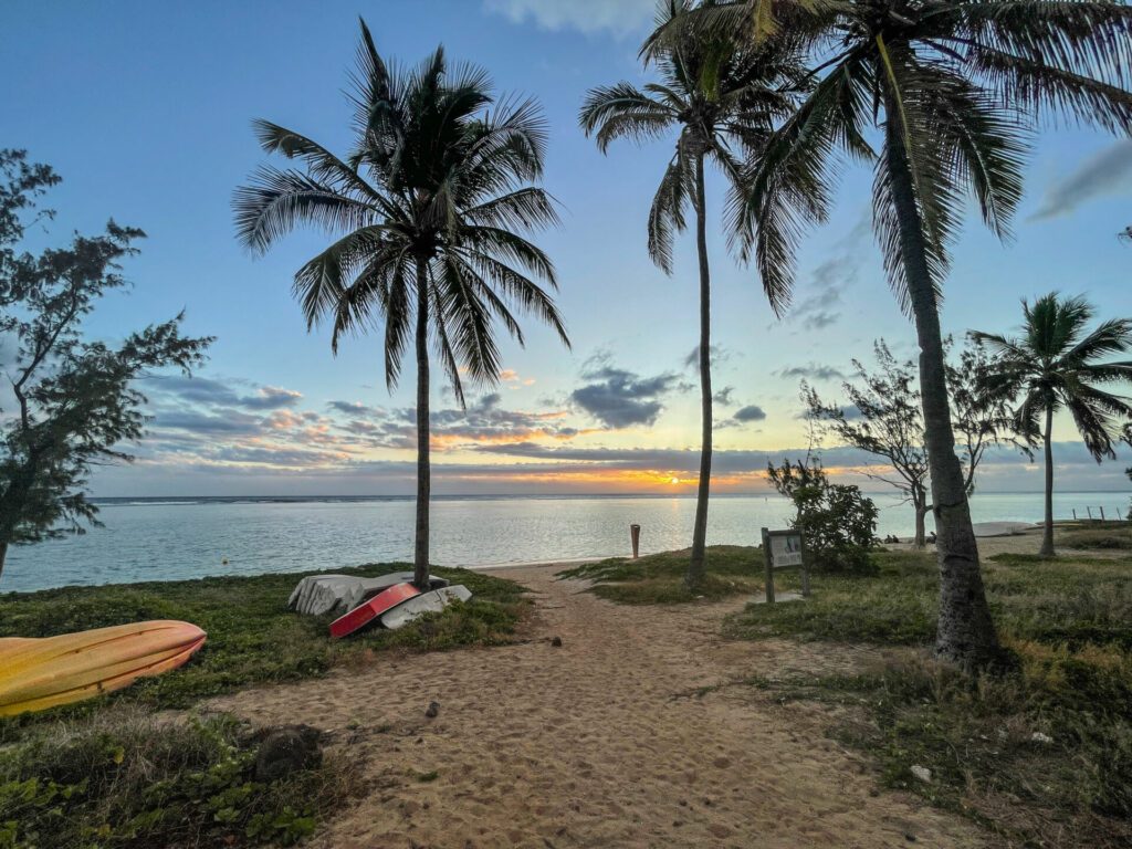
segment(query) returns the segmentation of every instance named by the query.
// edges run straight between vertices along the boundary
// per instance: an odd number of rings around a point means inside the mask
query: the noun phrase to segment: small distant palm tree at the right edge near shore
[[[1031,307],[1022,301],[1026,321],[1022,335],[1007,338],[974,333],[975,338],[998,354],[1000,372],[1021,386],[1018,429],[1041,434],[1046,461],[1046,521],[1041,556],[1054,556],[1054,413],[1067,409],[1084,447],[1099,463],[1115,460],[1113,444],[1122,439],[1124,422],[1132,419],[1130,398],[1113,395],[1096,384],[1132,383],[1132,360],[1107,362],[1105,358],[1132,350],[1132,319],[1101,323],[1090,333],[1086,325],[1095,310],[1083,298],[1060,299],[1056,292],[1038,298]],[[1044,421],[1039,423],[1039,420]]]

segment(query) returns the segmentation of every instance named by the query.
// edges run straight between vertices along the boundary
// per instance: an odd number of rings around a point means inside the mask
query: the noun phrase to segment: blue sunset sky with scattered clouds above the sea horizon
[[[537,241],[557,267],[573,345],[529,321],[526,346],[503,345],[498,386],[472,393],[466,411],[434,385],[434,491],[693,494],[694,238],[678,241],[671,276],[645,245],[675,136],[602,155],[577,128],[590,87],[648,79],[636,54],[653,9],[653,0],[0,5],[0,146],[26,148],[63,177],[48,200],[55,221],[29,241],[96,232],[110,217],[148,234],[126,269],[132,286],[105,299],[87,332],[120,338],[185,310],[186,332],[216,337],[191,379],[143,383],[149,435],[134,464],[98,470],[94,494],[414,491],[412,380],[387,391],[377,335],[346,340],[335,357],[328,333],[308,333],[291,297],[294,271],[325,234],[299,232],[254,257],[232,223],[233,190],[268,162],[252,119],[349,148],[344,93],[359,16],[378,50],[402,63],[443,43],[449,57],[484,66],[499,91],[538,98],[550,130],[544,186],[563,222]],[[794,306],[781,318],[728,252],[723,186],[709,180],[717,492],[765,491],[767,461],[805,451],[799,380],[835,400],[850,361],[867,362],[874,340],[901,357],[915,352],[872,235],[869,170],[844,165],[838,178],[830,222],[805,239]],[[1132,247],[1115,238],[1132,223],[1130,199],[1132,142],[1043,134],[1014,238],[1003,245],[968,216],[944,331],[1009,332],[1021,299],[1052,290],[1088,295],[1104,317],[1132,314]],[[1098,466],[1067,418],[1055,441],[1060,488],[1129,488],[1127,449]],[[865,481],[859,453],[826,443],[824,458],[837,479]],[[1037,491],[1041,470],[1003,448],[979,486]]]

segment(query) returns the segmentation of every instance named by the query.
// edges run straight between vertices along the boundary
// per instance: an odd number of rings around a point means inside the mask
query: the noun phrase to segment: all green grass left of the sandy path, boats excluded
[[[340,573],[374,576],[383,564]],[[411,567],[409,567],[411,568]],[[290,844],[365,790],[346,760],[269,783],[255,780],[258,735],[232,717],[172,718],[240,687],[292,681],[376,652],[491,645],[514,638],[525,590],[466,569],[434,569],[472,599],[398,631],[331,640],[331,617],[292,614],[305,574],[65,588],[0,595],[0,637],[51,636],[145,619],[183,619],[208,634],[181,669],[102,698],[0,719],[0,849]],[[379,729],[381,730],[381,729]],[[432,781],[436,773],[418,777]]]

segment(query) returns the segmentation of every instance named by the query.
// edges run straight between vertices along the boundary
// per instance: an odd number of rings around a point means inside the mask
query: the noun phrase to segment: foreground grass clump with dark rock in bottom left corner
[[[261,738],[230,715],[136,705],[41,726],[0,749],[0,847],[289,846],[362,795],[345,758],[257,782]]]

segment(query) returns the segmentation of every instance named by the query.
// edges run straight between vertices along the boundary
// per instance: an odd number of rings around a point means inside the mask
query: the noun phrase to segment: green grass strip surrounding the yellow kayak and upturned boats
[[[374,576],[405,568],[411,567],[381,564],[337,573]],[[434,573],[464,584],[472,591],[472,599],[398,631],[375,628],[348,640],[329,638],[332,617],[300,616],[286,608],[299,578],[315,573],[8,593],[0,595],[0,637],[51,636],[146,619],[194,623],[207,632],[208,641],[187,666],[157,678],[140,679],[108,697],[155,709],[188,707],[201,698],[252,684],[323,675],[335,666],[365,663],[374,652],[435,651],[513,638],[529,606],[522,586],[469,569],[437,568]],[[0,720],[0,743],[12,726],[35,722],[54,712],[88,712],[105,701]]]

